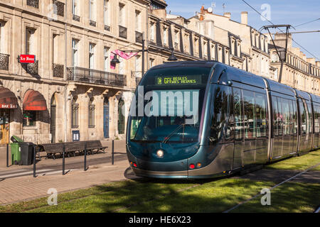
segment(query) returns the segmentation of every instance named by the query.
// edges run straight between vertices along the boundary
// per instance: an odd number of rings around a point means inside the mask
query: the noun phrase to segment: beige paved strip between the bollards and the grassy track
[[[127,171],[126,171],[127,170]],[[68,170],[66,170],[68,171]],[[89,170],[73,171],[67,175],[45,175],[0,179],[0,204],[11,204],[18,201],[49,196],[48,189],[55,188],[58,194],[75,189],[93,187],[107,182],[121,181],[131,172],[127,160],[90,166]],[[130,176],[132,178],[132,176]]]

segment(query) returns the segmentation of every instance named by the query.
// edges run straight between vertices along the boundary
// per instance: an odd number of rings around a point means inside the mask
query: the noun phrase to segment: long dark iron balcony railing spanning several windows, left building
[[[123,74],[92,70],[82,67],[68,67],[68,80],[87,82],[91,84],[105,84],[110,86],[127,86],[127,77]]]

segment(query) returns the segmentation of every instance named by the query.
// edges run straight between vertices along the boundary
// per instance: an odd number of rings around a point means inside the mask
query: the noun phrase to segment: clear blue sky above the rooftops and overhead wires
[[[320,1],[319,0],[245,0],[252,7],[257,9],[260,13],[265,11],[261,9],[262,4],[270,5],[270,18],[274,24],[290,24],[298,26],[302,23],[316,20],[320,18]],[[196,11],[200,11],[201,6],[204,5],[207,9],[211,3],[215,2],[214,13],[223,14],[223,4],[225,4],[225,12],[231,13],[231,19],[240,21],[240,13],[242,11],[248,12],[248,24],[253,28],[259,30],[262,26],[270,25],[268,21],[262,21],[260,15],[253,11],[242,0],[166,0],[168,4],[167,12],[171,11],[173,14],[181,15],[185,18],[190,18],[195,15]],[[304,26],[299,26],[296,31],[319,31],[320,20],[308,23]],[[290,30],[294,31],[294,29]],[[262,31],[264,32],[264,31]],[[320,60],[320,33],[302,33],[293,34],[294,40],[302,45],[306,50],[302,51],[307,57],[314,57],[315,55]],[[294,46],[299,47],[296,43]]]

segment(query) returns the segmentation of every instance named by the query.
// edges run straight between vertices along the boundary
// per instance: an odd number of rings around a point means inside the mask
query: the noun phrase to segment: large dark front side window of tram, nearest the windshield
[[[228,123],[228,117],[230,117],[230,87],[217,86],[213,97],[210,142],[215,144],[223,142],[221,140],[230,139],[231,127]]]

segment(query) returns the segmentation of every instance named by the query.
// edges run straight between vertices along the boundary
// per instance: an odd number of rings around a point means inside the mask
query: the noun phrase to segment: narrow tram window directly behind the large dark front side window
[[[243,119],[241,90],[233,88],[233,106],[235,109],[235,140],[242,140]]]

